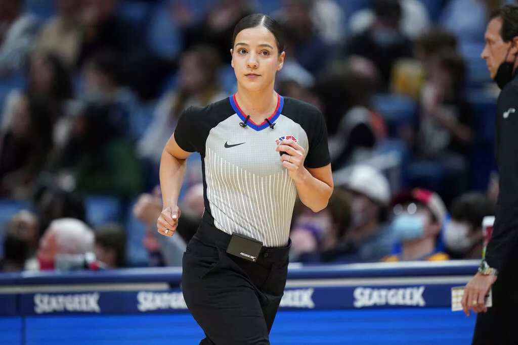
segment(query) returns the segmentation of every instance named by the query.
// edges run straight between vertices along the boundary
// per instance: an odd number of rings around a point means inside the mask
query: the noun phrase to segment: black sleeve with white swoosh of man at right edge
[[[500,172],[498,207],[487,263],[500,271],[518,249],[518,78],[502,89],[495,114],[495,154]]]

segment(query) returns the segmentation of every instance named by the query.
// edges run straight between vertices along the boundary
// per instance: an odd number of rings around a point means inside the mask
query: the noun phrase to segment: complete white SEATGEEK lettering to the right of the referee
[[[356,308],[372,306],[419,306],[426,305],[423,298],[424,286],[404,289],[370,289],[354,290],[354,306]]]

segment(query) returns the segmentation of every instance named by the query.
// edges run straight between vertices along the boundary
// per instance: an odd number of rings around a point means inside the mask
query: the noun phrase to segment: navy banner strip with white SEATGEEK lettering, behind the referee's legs
[[[289,288],[285,290],[280,309],[449,308],[453,286],[454,284],[423,284]],[[20,294],[18,298],[19,314],[22,315],[187,311],[183,295],[178,289],[31,293]],[[12,308],[12,301],[6,306]]]

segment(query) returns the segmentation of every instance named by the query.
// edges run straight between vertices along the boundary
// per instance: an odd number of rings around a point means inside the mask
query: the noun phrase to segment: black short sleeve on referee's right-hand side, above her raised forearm
[[[304,161],[306,168],[322,168],[330,163],[327,126],[324,115],[315,108],[308,129],[309,150]]]

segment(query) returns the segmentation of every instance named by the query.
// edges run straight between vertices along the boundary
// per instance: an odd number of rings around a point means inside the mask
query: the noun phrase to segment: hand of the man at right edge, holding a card
[[[462,297],[462,308],[466,316],[469,316],[469,309],[476,313],[487,311],[485,296],[495,281],[496,276],[494,275],[485,276],[477,273],[466,285],[464,296]]]

